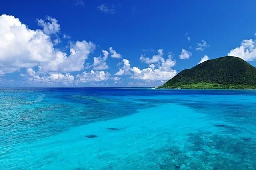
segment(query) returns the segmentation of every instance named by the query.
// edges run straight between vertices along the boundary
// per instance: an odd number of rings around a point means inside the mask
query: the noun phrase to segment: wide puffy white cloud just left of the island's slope
[[[115,75],[131,75],[132,79],[140,80],[168,80],[174,77],[177,72],[173,70],[176,61],[172,59],[172,55],[169,53],[168,59],[162,57],[163,50],[158,50],[158,56],[161,56],[158,61],[152,63],[152,59],[141,59],[142,62],[151,63],[148,68],[140,69],[138,67],[131,67],[128,59],[123,59],[123,67],[121,67]]]

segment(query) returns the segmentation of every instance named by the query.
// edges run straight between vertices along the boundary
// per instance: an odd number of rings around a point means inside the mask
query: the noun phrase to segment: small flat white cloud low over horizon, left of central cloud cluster
[[[110,77],[110,73],[104,72],[104,71],[93,71],[91,70],[90,72],[84,71],[82,74],[76,75],[80,82],[85,83],[85,82],[90,82],[90,81],[104,81],[108,80]]]

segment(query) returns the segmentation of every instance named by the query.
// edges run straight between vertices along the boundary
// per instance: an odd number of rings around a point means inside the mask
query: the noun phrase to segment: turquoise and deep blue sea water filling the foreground
[[[256,169],[256,90],[0,90],[0,169]]]

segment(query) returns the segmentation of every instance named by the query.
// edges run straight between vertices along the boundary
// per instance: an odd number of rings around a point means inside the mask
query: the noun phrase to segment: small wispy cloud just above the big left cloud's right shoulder
[[[58,20],[50,16],[46,16],[46,19],[48,22],[45,22],[42,19],[37,20],[38,25],[43,28],[43,32],[47,35],[58,33],[60,31],[60,24],[58,24]]]

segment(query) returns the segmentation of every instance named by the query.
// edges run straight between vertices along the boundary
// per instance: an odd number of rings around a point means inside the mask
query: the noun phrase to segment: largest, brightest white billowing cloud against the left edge
[[[14,50],[15,49],[15,50]],[[50,37],[14,16],[0,16],[0,73],[13,73],[54,59]]]

